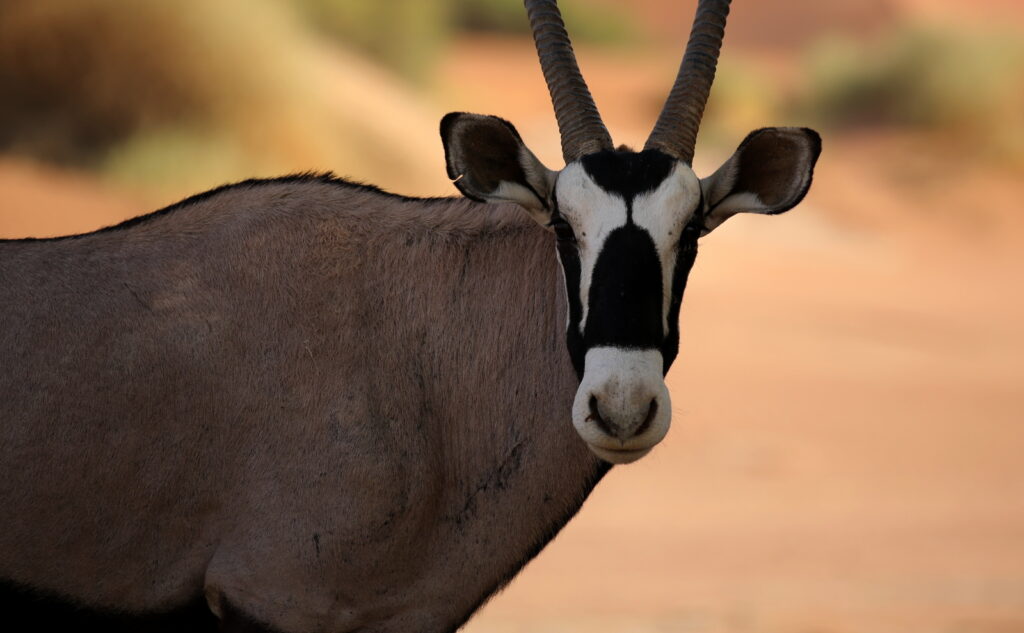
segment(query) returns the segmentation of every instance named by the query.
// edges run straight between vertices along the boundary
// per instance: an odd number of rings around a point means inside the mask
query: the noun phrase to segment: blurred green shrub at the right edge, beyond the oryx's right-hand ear
[[[835,128],[972,137],[1024,156],[1024,33],[901,27],[881,42],[827,40],[800,109]]]

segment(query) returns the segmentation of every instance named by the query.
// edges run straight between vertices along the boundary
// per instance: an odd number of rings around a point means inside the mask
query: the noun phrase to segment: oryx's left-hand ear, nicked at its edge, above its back
[[[538,222],[551,220],[557,173],[534,156],[511,123],[453,112],[441,119],[441,141],[449,178],[467,198],[514,202]]]

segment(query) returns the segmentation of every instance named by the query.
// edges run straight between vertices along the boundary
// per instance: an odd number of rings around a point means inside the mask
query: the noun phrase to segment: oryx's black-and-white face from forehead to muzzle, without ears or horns
[[[655,150],[589,155],[558,176],[552,225],[581,379],[572,422],[610,462],[639,459],[669,430],[664,375],[678,351],[701,200],[693,171]]]

